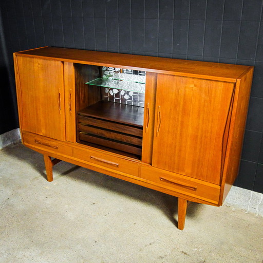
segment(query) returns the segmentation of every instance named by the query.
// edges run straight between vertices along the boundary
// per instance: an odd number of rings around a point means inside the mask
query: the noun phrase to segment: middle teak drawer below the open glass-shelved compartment
[[[125,160],[89,149],[73,148],[72,151],[75,158],[86,161],[90,165],[93,164],[105,170],[115,170],[116,172],[122,172],[129,175],[139,175],[139,164],[132,160]]]

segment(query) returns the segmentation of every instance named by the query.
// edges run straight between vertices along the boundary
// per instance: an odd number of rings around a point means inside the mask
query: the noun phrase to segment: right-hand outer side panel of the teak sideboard
[[[230,126],[229,143],[226,162],[224,165],[222,187],[219,204],[226,199],[239,170],[243,137],[245,134],[247,112],[249,106],[250,89],[253,77],[253,68],[244,74],[236,82],[236,96],[233,106],[233,114]]]

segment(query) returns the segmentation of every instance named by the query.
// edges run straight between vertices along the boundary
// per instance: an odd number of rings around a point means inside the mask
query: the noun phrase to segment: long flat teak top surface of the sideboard
[[[252,66],[222,64],[214,62],[187,61],[146,57],[143,55],[109,53],[70,48],[43,47],[15,54],[50,58],[72,63],[98,66],[112,66],[144,70],[156,73],[174,74],[179,76],[214,79],[235,82],[241,74],[252,69]]]

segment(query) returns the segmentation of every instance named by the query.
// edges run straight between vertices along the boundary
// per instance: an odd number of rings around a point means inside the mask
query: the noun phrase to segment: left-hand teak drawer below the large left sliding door
[[[40,135],[23,133],[23,143],[26,146],[32,146],[34,148],[42,149],[44,151],[59,153],[63,155],[72,155],[72,149],[70,146],[63,144],[57,140],[53,140]]]

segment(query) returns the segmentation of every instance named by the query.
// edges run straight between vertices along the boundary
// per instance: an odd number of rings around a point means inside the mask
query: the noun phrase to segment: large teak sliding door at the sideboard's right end
[[[159,74],[153,166],[220,183],[234,84]]]

